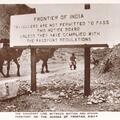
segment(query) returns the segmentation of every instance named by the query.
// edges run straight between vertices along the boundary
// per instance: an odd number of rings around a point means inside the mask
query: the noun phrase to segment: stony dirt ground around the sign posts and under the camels
[[[22,61],[22,62],[21,62]],[[50,73],[41,74],[37,63],[37,92],[30,93],[30,58],[24,52],[21,59],[18,96],[0,102],[1,112],[43,111],[120,111],[120,82],[102,78],[91,71],[91,96],[83,97],[84,60],[77,61],[77,69],[70,70],[66,60],[49,60]],[[5,68],[4,68],[5,69]],[[92,69],[92,68],[91,68]],[[16,78],[16,66],[11,64],[11,77]],[[1,76],[1,80],[5,80]]]

